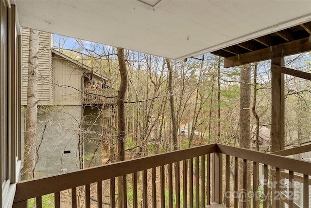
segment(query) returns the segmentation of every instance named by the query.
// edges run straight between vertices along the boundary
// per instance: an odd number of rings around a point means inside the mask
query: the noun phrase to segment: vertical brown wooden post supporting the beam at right
[[[271,64],[284,66],[284,57],[271,59]],[[271,116],[271,151],[284,150],[284,74],[271,72],[272,116]]]

